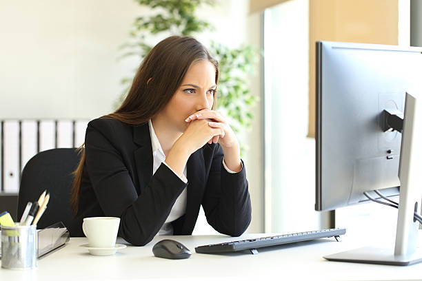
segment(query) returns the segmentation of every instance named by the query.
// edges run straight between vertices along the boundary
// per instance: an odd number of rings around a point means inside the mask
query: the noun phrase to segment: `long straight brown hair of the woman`
[[[177,91],[183,77],[192,63],[210,61],[215,66],[215,83],[219,79],[219,63],[213,59],[208,50],[192,37],[172,36],[164,39],[145,56],[137,74],[135,74],[128,96],[115,112],[101,118],[115,118],[130,125],[141,125],[148,122],[163,110]],[[217,96],[214,92],[214,104]],[[70,205],[74,215],[79,204],[85,149],[83,145],[77,149],[81,160],[73,172],[72,197]]]

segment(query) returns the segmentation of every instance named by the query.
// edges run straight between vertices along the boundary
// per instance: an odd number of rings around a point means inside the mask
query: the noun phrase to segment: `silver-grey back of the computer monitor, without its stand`
[[[420,49],[316,43],[316,210],[399,194],[401,133],[384,132],[383,110],[403,114],[421,77]]]

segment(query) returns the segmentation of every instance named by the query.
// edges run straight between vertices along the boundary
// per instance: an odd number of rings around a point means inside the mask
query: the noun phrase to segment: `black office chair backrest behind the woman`
[[[50,149],[32,157],[22,171],[18,198],[18,218],[21,219],[26,204],[37,201],[47,189],[50,193],[48,207],[37,224],[38,229],[63,222],[66,227],[72,221],[70,194],[80,155],[74,148]]]

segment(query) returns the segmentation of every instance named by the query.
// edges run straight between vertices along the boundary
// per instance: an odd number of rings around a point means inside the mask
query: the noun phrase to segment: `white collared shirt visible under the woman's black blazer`
[[[152,164],[152,174],[155,174],[157,169],[160,167],[161,163],[166,165],[175,175],[177,175],[183,183],[188,183],[188,169],[185,166],[185,169],[183,169],[183,175],[179,176],[177,173],[173,171],[172,168],[170,168],[165,163],[165,154],[163,152],[163,148],[161,147],[161,144],[159,142],[159,139],[157,138],[157,134],[155,134],[154,127],[152,126],[151,120],[148,121],[148,125],[150,126],[150,136],[151,136],[151,145],[152,145],[152,157],[154,158],[154,162]],[[224,163],[223,158],[223,166],[226,171],[228,171],[230,174],[236,174],[235,171],[230,170]],[[243,169],[243,163],[242,163],[242,169]],[[176,202],[174,202],[174,205],[172,207],[172,210],[170,211],[170,215],[168,215],[168,218],[165,220],[164,225],[159,230],[158,235],[172,235],[173,234],[173,226],[170,222],[177,220],[181,216],[185,214],[186,211],[186,203],[188,201],[188,191],[185,187],[183,189],[182,193],[179,195],[179,197],[176,199]]]

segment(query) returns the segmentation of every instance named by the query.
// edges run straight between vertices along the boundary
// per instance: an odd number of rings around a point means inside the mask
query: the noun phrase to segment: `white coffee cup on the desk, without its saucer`
[[[88,238],[90,247],[112,248],[116,244],[120,218],[93,217],[84,218],[82,230]]]

